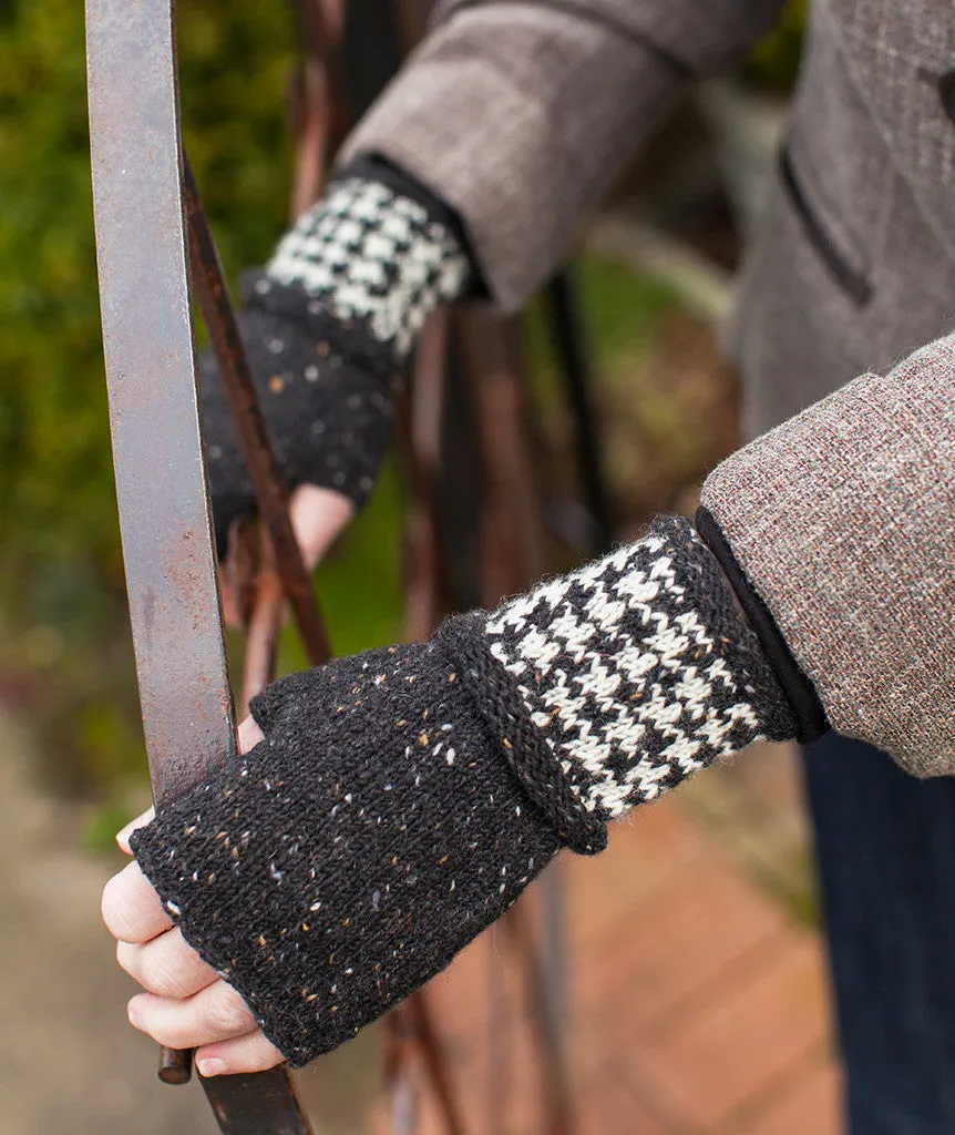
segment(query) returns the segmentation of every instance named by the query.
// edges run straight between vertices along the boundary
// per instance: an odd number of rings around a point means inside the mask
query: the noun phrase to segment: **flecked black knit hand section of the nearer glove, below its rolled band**
[[[559,848],[433,644],[253,705],[267,740],[133,836],[186,940],[299,1067],[441,970]]]

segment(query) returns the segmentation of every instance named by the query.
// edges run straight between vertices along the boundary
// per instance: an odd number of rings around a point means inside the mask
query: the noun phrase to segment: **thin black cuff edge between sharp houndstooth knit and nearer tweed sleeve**
[[[736,562],[736,557],[712,513],[701,506],[696,510],[695,522],[701,539],[716,556],[724,574],[736,592],[783,692],[789,701],[798,725],[796,740],[803,745],[808,741],[814,741],[829,729],[826,711],[822,708],[815,687],[793,656],[793,651],[776,625],[769,607],[757,595],[743,569]]]

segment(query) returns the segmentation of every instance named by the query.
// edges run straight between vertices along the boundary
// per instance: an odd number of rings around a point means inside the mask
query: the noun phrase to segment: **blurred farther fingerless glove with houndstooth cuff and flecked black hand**
[[[289,488],[362,505],[391,438],[398,371],[428,316],[471,278],[453,215],[392,169],[363,161],[298,219],[238,314],[252,377]],[[200,360],[220,556],[255,512],[214,355]]]

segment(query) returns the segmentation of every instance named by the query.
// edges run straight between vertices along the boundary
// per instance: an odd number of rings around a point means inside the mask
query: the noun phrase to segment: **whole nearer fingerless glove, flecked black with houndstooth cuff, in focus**
[[[133,849],[288,1060],[442,969],[561,844],[795,720],[688,522],[429,642],[268,688],[265,740]]]

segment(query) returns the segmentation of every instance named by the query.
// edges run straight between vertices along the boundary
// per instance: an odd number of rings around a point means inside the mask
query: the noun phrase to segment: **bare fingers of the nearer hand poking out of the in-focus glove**
[[[250,717],[239,725],[238,737],[245,753],[262,740],[262,731]],[[152,818],[150,809],[118,833],[117,842],[127,855],[132,832]],[[264,1071],[281,1063],[282,1054],[245,1001],[174,926],[138,864],[128,864],[107,883],[102,911],[117,939],[119,965],[146,991],[127,1007],[136,1028],[168,1048],[196,1049],[203,1076]]]

